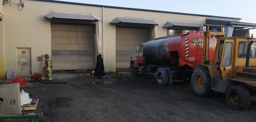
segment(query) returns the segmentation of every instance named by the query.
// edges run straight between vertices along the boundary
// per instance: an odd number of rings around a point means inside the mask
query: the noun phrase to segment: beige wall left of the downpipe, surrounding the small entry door
[[[25,1],[22,11],[18,0],[4,5],[5,70],[14,70],[17,75],[17,47],[31,47],[32,73],[41,72],[38,56],[51,56],[51,22],[44,18],[50,12],[93,14],[102,18],[102,8],[59,4],[39,1]],[[0,23],[1,24],[1,23]],[[0,25],[1,26],[1,25]],[[1,33],[0,33],[1,34]]]

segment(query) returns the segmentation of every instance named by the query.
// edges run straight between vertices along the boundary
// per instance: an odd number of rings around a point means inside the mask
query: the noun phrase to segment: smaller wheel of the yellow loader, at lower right
[[[251,96],[249,91],[239,85],[230,87],[227,90],[227,103],[236,110],[246,110],[251,105]]]

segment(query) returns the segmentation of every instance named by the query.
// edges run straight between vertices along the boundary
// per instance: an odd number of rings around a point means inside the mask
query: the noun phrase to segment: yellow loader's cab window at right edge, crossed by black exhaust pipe
[[[248,44],[249,42],[239,42],[238,58],[246,58]],[[251,45],[250,58],[256,58],[256,42]]]

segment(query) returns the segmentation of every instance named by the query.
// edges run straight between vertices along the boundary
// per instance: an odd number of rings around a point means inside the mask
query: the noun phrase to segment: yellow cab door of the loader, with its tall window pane
[[[221,64],[220,64],[220,69],[221,69],[221,73],[222,73],[222,77],[223,80],[227,80],[229,78],[232,78],[232,63],[233,60],[232,58],[234,57],[234,40],[225,40],[224,41],[224,49],[222,52],[222,60],[221,60]]]

